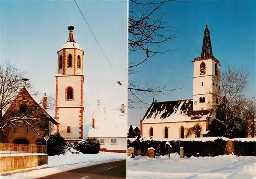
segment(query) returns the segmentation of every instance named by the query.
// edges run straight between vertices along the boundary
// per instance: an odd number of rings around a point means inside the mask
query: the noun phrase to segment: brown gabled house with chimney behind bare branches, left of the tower
[[[5,142],[19,144],[42,144],[43,137],[56,132],[59,122],[47,110],[47,97],[39,100],[27,86],[4,113]]]

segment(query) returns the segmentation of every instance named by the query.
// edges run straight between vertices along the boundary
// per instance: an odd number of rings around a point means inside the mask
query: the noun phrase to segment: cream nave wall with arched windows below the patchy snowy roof
[[[164,138],[164,128],[168,127],[168,139],[180,138],[180,128],[184,127],[184,136],[186,138],[187,129],[193,127],[195,124],[199,124],[201,127],[201,137],[203,132],[206,131],[206,121],[191,121],[191,122],[173,122],[173,123],[152,123],[152,124],[142,124],[142,136],[150,136],[150,127],[153,127],[153,137],[154,138]],[[194,138],[195,136],[190,136]]]

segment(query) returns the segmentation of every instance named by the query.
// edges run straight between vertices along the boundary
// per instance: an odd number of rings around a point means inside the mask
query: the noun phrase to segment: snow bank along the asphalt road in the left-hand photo
[[[44,177],[46,175],[51,175],[67,170],[72,170],[75,168],[96,165],[105,162],[112,162],[117,160],[125,160],[126,153],[109,153],[109,152],[100,152],[98,154],[72,154],[67,153],[66,155],[59,156],[48,156],[48,165],[42,165],[34,168],[33,171],[28,171],[24,173],[12,174],[9,176],[0,176],[0,178],[38,178]],[[27,169],[28,170],[28,169]],[[15,172],[23,172],[24,170],[15,170]],[[3,172],[5,174],[8,172]]]

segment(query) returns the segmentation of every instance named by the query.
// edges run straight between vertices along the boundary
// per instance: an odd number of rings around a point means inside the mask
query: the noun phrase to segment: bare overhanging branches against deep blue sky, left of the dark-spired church
[[[161,7],[172,1],[178,0],[131,0],[129,2],[129,55],[140,52],[144,56],[138,61],[129,59],[129,75],[137,74],[136,68],[146,62],[151,62],[154,56],[170,51],[170,49],[163,51],[161,44],[173,40],[177,32],[173,32],[172,27],[164,23],[166,13],[161,11]],[[165,32],[170,35],[164,35]],[[130,80],[128,86],[129,107],[137,108],[135,105],[138,103],[147,104],[141,98],[144,95],[157,95],[177,89],[180,88],[167,88],[166,85],[158,86],[156,83],[141,84]]]

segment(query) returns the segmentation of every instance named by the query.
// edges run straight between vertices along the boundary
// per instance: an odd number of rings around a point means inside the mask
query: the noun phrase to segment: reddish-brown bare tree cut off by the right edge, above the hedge
[[[244,119],[247,123],[247,134],[250,137],[255,137],[256,130],[256,101],[253,99],[245,108]]]

